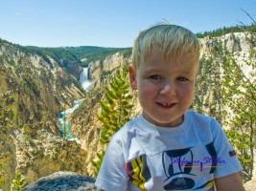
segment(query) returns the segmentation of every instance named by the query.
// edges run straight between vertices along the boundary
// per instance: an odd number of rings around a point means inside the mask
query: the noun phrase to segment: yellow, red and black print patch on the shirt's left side
[[[131,183],[141,190],[147,190],[145,189],[144,184],[148,180],[151,180],[151,172],[146,155],[144,154],[126,163],[126,169]]]

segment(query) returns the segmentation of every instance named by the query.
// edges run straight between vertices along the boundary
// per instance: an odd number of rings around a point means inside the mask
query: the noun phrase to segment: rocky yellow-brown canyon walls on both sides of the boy
[[[216,117],[224,124],[217,94],[221,89],[217,79],[221,78],[223,70],[221,57],[215,53],[224,47],[240,62],[255,61],[250,53],[256,50],[256,34],[234,32],[199,40],[200,75],[207,80],[204,82],[199,78],[191,109]],[[97,159],[97,153],[105,150],[99,142],[102,127],[98,119],[101,113],[99,101],[104,100],[105,87],[115,72],[129,65],[131,58],[118,52],[90,62],[86,74],[92,84],[85,91],[79,82],[81,63],[70,57],[40,54],[0,41],[0,112],[5,115],[0,118],[0,179],[4,180],[3,189],[10,187],[17,171],[25,177],[26,183],[58,171],[94,176],[91,161]],[[247,76],[255,77],[252,66],[244,64],[243,71]],[[130,93],[133,95],[131,118],[141,113],[141,107],[136,92],[130,90]],[[80,140],[77,142],[61,137],[58,113],[71,108],[79,99],[82,99],[80,106],[67,118],[72,134]],[[228,128],[228,125],[223,127]],[[255,167],[253,174],[256,175]]]

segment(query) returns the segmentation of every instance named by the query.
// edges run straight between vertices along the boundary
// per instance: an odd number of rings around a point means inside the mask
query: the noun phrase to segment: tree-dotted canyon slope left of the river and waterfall
[[[81,145],[59,136],[58,112],[85,95],[81,67],[0,40],[0,187],[15,172],[30,183],[60,170],[84,174]],[[64,63],[73,66],[66,72]],[[2,183],[4,182],[4,185]]]

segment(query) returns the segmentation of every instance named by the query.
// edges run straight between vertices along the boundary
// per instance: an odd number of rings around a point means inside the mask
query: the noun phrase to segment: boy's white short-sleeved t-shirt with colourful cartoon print
[[[193,111],[177,127],[142,115],[109,142],[95,184],[105,191],[214,190],[214,179],[241,171],[220,124]]]

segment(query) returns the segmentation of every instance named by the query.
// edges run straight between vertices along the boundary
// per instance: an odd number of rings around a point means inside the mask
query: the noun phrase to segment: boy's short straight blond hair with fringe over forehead
[[[162,53],[161,58],[189,58],[198,70],[199,42],[197,36],[180,26],[160,24],[140,32],[133,43],[132,65],[136,71],[152,52]]]

